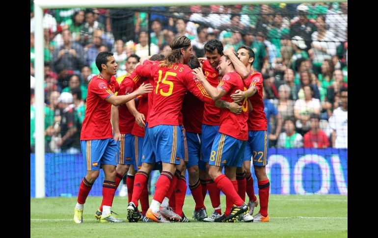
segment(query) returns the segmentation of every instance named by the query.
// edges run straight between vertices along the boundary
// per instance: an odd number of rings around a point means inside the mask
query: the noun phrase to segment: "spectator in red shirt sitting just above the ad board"
[[[304,148],[327,148],[329,147],[328,136],[319,128],[320,116],[318,114],[310,115],[311,130],[304,134]]]

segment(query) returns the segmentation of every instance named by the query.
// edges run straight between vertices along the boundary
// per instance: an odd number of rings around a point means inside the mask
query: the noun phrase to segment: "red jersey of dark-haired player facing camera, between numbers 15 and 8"
[[[203,62],[203,73],[209,83],[216,87],[219,83],[219,71],[214,69],[209,60]],[[205,104],[203,111],[202,124],[219,126],[220,108],[215,105]]]

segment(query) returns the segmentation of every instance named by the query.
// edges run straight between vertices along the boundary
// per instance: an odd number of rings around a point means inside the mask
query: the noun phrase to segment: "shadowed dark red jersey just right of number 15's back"
[[[187,132],[201,133],[204,103],[188,92],[184,97],[183,109],[184,128]]]

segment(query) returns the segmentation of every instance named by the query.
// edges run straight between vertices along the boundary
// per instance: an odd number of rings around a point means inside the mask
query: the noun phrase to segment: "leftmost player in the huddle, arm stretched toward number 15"
[[[151,84],[142,84],[129,95],[114,96],[114,92],[119,90],[119,85],[114,77],[118,65],[113,53],[100,52],[95,62],[100,75],[94,76],[88,84],[87,106],[80,138],[81,152],[87,163],[87,173],[80,184],[74,221],[82,223],[85,200],[102,168],[105,180],[100,222],[122,222],[110,212],[115,193],[115,166],[117,165],[117,144],[113,139],[110,124],[110,108],[111,105],[123,105],[138,95],[149,93],[153,87]]]

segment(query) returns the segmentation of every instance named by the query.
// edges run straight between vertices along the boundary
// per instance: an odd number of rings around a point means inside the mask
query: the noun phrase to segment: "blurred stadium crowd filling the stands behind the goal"
[[[160,11],[176,9],[172,17],[126,8],[45,9],[47,153],[80,152],[87,87],[99,74],[95,64],[99,52],[114,53],[119,65],[116,77],[122,81],[149,51],[150,55],[169,53],[169,43],[177,35],[191,40],[197,57],[206,57],[204,45],[211,39],[220,40],[224,50],[236,52],[242,45],[253,49],[253,68],[264,79],[270,147],[348,147],[348,121],[344,120],[348,109],[347,2],[189,8],[190,13],[183,13],[175,7],[159,7]],[[31,153],[35,144],[34,28],[31,7]]]

